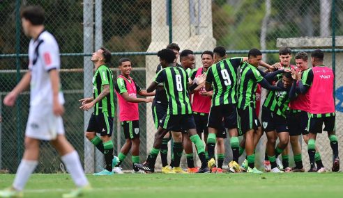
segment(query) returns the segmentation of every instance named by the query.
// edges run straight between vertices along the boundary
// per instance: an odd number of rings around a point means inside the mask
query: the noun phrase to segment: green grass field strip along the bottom
[[[84,197],[343,197],[343,173],[115,174],[87,175],[93,191]],[[0,188],[14,174],[0,174]],[[68,174],[33,174],[24,197],[61,197],[74,188]]]

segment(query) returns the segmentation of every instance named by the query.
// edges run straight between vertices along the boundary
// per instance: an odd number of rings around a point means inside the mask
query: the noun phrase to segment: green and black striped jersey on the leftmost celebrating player
[[[101,65],[96,69],[93,76],[93,98],[99,96],[103,90],[103,85],[109,85],[109,94],[94,106],[94,115],[108,113],[109,117],[114,117],[114,86],[112,71],[106,66]]]

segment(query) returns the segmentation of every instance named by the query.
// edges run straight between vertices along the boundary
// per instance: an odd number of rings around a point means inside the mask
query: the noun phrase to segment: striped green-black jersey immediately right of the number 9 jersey
[[[247,106],[255,107],[257,83],[261,82],[264,77],[259,70],[245,62],[240,69],[241,77],[238,81],[238,108]]]

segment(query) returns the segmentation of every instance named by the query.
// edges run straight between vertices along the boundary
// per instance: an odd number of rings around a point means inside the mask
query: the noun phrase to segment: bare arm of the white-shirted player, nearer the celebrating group
[[[54,115],[63,115],[64,108],[63,105],[59,103],[59,71],[57,69],[49,70],[49,76],[52,86],[52,103],[53,103],[53,112]]]

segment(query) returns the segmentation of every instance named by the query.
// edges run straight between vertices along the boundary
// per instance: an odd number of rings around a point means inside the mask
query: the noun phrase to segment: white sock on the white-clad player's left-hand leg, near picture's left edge
[[[15,180],[13,181],[13,188],[22,191],[25,187],[26,182],[29,180],[32,172],[36,169],[38,161],[36,160],[24,160],[20,162],[20,165],[15,174]]]

